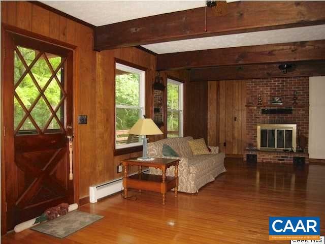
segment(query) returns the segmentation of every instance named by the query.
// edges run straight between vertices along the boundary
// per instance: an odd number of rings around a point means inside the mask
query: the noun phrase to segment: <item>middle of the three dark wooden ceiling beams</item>
[[[157,55],[157,70],[321,60],[325,40],[218,48]]]

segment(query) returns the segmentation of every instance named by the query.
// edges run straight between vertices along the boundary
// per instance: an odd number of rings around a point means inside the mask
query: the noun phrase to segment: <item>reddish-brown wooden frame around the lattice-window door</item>
[[[49,43],[51,45],[60,46],[66,49],[70,49],[73,54],[73,64],[72,64],[72,86],[73,86],[73,95],[72,95],[72,124],[73,124],[73,135],[74,135],[74,143],[73,143],[73,184],[74,184],[74,202],[79,204],[79,143],[78,143],[78,123],[77,123],[77,115],[79,112],[78,107],[78,77],[77,77],[77,57],[78,57],[78,48],[75,45],[70,43],[62,42],[53,38],[49,38],[43,35],[39,35],[36,33],[32,33],[26,31],[25,29],[21,29],[8,24],[1,24],[1,235],[7,233],[7,204],[6,204],[6,161],[8,157],[14,157],[14,148],[9,151],[4,149],[5,143],[10,139],[6,137],[4,133],[4,110],[3,110],[3,102],[4,102],[4,60],[5,60],[5,35],[9,35],[9,33],[21,35],[31,39],[37,39],[39,41]],[[14,140],[12,137],[11,140]]]

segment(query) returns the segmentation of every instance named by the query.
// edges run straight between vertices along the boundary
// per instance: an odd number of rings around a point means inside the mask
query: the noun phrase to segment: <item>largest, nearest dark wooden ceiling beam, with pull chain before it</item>
[[[123,11],[123,9],[121,9]],[[228,14],[196,8],[95,27],[94,48],[105,50],[150,43],[325,23],[323,1],[239,1]]]

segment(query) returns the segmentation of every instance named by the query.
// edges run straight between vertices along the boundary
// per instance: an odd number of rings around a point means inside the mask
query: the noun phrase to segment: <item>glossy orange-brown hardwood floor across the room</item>
[[[2,243],[266,243],[269,216],[319,216],[325,234],[325,166],[247,165],[226,161],[226,173],[199,194],[130,191],[79,210],[102,220],[57,239],[35,231],[9,233]],[[286,243],[289,241],[272,241]]]

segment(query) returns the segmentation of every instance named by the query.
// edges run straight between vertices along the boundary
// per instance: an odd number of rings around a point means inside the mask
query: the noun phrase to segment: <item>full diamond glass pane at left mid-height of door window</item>
[[[27,109],[40,94],[29,74],[24,77],[15,91]]]

